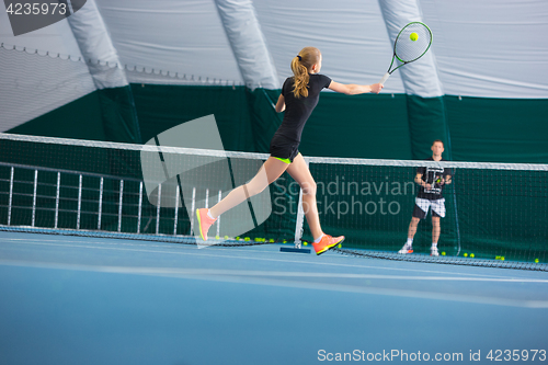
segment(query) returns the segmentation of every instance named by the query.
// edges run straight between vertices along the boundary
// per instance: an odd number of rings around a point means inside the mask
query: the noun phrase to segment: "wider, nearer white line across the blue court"
[[[252,284],[252,285],[269,285],[277,287],[290,287],[290,288],[301,288],[301,289],[315,289],[315,290],[330,290],[330,292],[343,292],[343,293],[357,293],[357,294],[373,294],[373,295],[388,295],[397,297],[410,297],[420,299],[435,299],[435,300],[446,300],[446,301],[459,301],[459,303],[472,303],[482,305],[496,305],[496,306],[509,306],[509,307],[521,307],[521,308],[537,308],[545,309],[548,308],[548,300],[520,300],[520,299],[509,299],[501,297],[482,297],[473,295],[458,295],[450,293],[437,293],[437,292],[419,292],[409,289],[391,289],[391,288],[379,288],[379,287],[365,287],[357,285],[341,285],[341,284],[330,284],[330,283],[313,283],[313,282],[302,282],[302,281],[284,281],[275,278],[261,278],[256,277],[256,273],[262,273],[263,276],[274,276],[274,275],[290,275],[290,274],[305,274],[310,275],[310,273],[286,273],[286,272],[242,272],[242,271],[208,271],[203,269],[189,270],[189,269],[158,269],[158,267],[124,267],[124,266],[83,266],[83,265],[49,265],[49,264],[37,264],[33,262],[14,262],[14,261],[0,261],[0,265],[10,266],[32,266],[39,269],[54,269],[54,270],[73,270],[81,272],[100,272],[100,273],[114,273],[114,274],[134,274],[134,275],[152,275],[162,277],[176,277],[186,280],[199,280],[208,282],[225,282],[225,283],[236,283],[236,284]],[[232,273],[232,275],[227,275],[227,273]],[[272,275],[270,275],[272,274]],[[331,274],[327,274],[331,275]],[[344,274],[332,274],[340,277],[345,277]],[[342,276],[341,276],[342,275]],[[378,278],[386,275],[358,275],[362,277]],[[293,277],[293,276],[292,276]],[[333,276],[331,276],[333,277]],[[443,278],[442,278],[443,280]],[[456,277],[456,280],[465,280]],[[489,281],[489,280],[484,280]]]

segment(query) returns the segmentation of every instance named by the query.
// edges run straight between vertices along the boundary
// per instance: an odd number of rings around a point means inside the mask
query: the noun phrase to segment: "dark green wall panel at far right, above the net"
[[[444,100],[455,161],[548,163],[548,100]]]

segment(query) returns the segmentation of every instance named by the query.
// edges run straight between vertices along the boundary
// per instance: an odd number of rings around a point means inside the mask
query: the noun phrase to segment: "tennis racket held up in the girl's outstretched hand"
[[[379,83],[384,84],[390,75],[403,65],[415,61],[424,56],[426,52],[429,52],[431,45],[432,31],[426,24],[421,22],[411,22],[403,26],[393,43],[393,56],[390,67]],[[396,67],[393,70],[390,70],[392,66],[395,66],[395,59],[398,59],[401,65]]]

